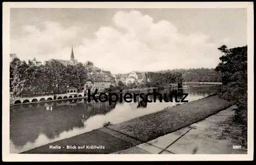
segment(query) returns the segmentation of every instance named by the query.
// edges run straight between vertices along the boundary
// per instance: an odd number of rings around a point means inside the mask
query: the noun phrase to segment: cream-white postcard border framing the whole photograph
[[[248,45],[248,149],[247,154],[10,154],[9,54],[10,8],[247,8]],[[207,3],[3,3],[3,99],[2,156],[3,161],[195,161],[195,160],[253,160],[253,2]]]

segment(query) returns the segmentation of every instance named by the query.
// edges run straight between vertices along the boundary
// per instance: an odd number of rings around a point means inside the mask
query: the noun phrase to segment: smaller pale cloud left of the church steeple
[[[38,60],[51,59],[54,58],[53,54],[58,54],[57,58],[60,58],[61,52],[65,50],[63,45],[66,41],[74,39],[76,32],[76,27],[66,29],[57,22],[44,22],[41,27],[24,26],[25,37],[10,41],[11,52],[24,60],[34,57]]]

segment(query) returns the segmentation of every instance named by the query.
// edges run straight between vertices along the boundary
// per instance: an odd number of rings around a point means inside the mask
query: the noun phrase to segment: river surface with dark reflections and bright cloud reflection
[[[185,100],[190,102],[207,97],[216,89],[216,86],[198,86],[178,89],[178,92],[188,93]],[[162,94],[166,92],[169,93],[169,89],[161,91]],[[176,104],[182,103],[157,100],[138,108],[138,102],[109,105],[109,102],[88,103],[80,99],[11,106],[10,153],[27,151],[101,128],[108,122],[121,123]]]

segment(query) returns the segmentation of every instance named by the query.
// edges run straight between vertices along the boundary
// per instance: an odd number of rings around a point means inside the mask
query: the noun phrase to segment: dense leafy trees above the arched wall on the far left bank
[[[15,97],[64,93],[67,86],[81,89],[81,80],[86,78],[82,63],[65,66],[49,60],[45,65],[36,66],[18,58],[10,63],[10,91]]]

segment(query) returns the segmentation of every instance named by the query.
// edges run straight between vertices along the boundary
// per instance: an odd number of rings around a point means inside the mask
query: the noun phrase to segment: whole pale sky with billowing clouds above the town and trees
[[[11,8],[10,53],[21,60],[92,61],[112,74],[214,68],[218,48],[247,44],[247,11]]]

